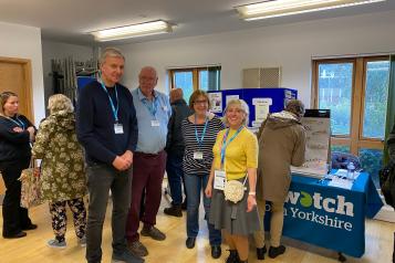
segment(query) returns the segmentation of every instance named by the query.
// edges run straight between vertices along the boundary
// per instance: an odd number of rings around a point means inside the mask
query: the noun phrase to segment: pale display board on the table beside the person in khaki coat
[[[330,109],[306,109],[301,123],[306,132],[305,162],[301,167],[291,167],[291,170],[321,178],[328,173],[331,154]]]

